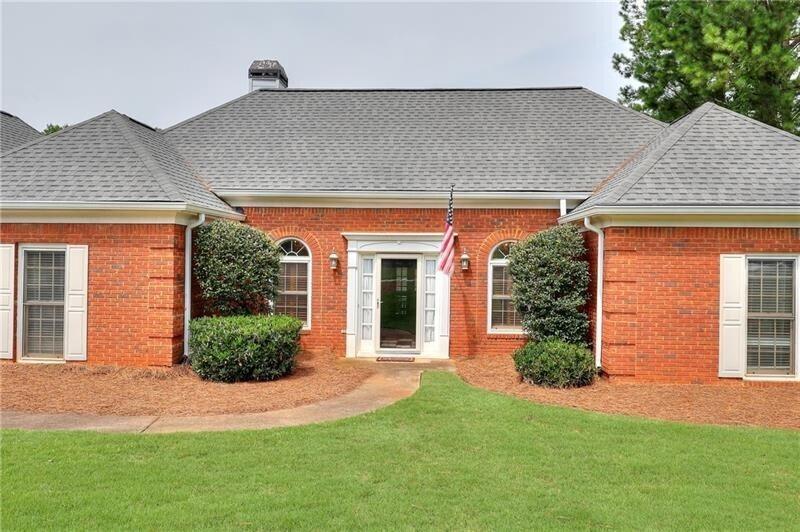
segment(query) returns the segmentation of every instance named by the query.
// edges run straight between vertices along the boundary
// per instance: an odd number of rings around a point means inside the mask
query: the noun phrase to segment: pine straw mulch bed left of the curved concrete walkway
[[[187,366],[0,364],[0,409],[174,416],[265,412],[345,394],[372,373],[334,355],[309,353],[298,357],[287,377],[236,384],[203,381]]]

